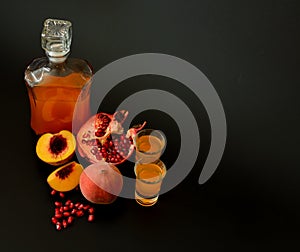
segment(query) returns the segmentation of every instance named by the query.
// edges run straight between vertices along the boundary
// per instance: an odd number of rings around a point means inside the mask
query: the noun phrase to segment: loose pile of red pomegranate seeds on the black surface
[[[94,213],[95,209],[89,204],[83,204],[80,202],[73,203],[70,199],[65,200],[65,194],[62,192],[57,192],[55,190],[51,191],[51,195],[54,196],[58,194],[60,197],[59,201],[55,201],[55,212],[54,216],[51,218],[52,223],[55,225],[56,230],[62,230],[70,226],[76,217],[80,218],[87,215],[87,220],[93,222],[95,219]]]

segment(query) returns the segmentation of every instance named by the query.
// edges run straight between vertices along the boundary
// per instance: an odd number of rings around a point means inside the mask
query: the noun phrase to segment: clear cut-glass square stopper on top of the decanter
[[[67,20],[46,19],[41,34],[42,48],[50,57],[69,53],[72,41],[72,23]]]

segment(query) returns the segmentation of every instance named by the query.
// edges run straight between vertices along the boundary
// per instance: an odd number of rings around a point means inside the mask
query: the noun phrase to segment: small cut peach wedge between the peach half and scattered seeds
[[[53,171],[48,176],[47,182],[56,191],[71,191],[79,184],[82,171],[83,167],[73,161]]]

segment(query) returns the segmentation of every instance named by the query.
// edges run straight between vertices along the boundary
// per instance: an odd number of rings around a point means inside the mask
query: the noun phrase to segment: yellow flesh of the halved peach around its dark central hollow
[[[67,141],[66,148],[58,155],[50,151],[50,140],[55,135],[62,135]],[[76,138],[68,130],[62,130],[56,134],[45,133],[38,139],[36,144],[36,154],[39,159],[53,166],[59,166],[69,162],[75,154],[75,149]]]

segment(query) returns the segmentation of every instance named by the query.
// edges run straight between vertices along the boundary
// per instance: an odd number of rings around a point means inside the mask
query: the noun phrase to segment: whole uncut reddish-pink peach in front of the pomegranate
[[[79,186],[88,201],[110,204],[122,190],[123,177],[114,165],[98,162],[84,169],[80,175]]]

